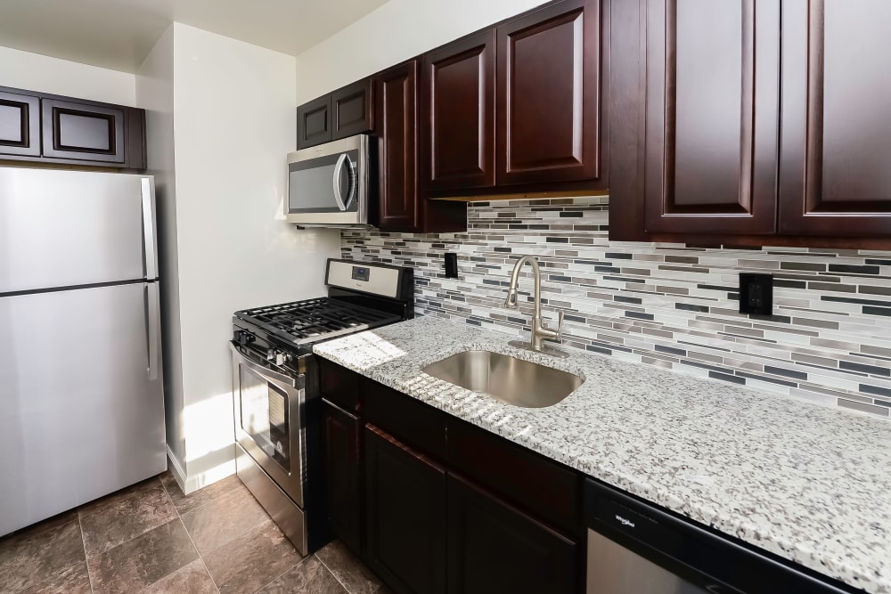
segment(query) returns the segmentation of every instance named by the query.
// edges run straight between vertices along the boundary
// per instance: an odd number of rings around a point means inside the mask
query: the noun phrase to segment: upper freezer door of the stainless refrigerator
[[[151,176],[0,167],[0,295],[153,278]]]

